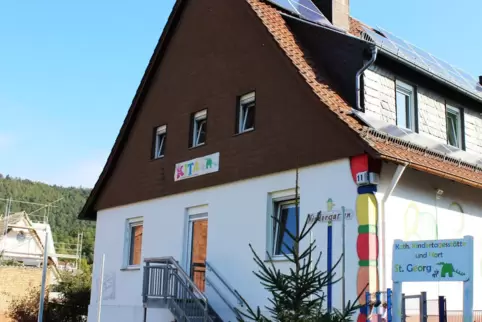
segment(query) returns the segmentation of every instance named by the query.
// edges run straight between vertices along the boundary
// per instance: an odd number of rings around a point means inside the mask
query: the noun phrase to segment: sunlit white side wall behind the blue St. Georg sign
[[[393,165],[385,165],[383,168],[377,193],[379,201],[382,200],[383,192],[387,189],[394,170]],[[440,200],[435,199],[436,189],[444,190]],[[386,208],[387,239],[384,245],[387,247],[388,286],[391,286],[392,247],[395,239],[452,239],[472,235],[475,253],[474,309],[482,310],[481,195],[480,190],[414,170],[406,170],[388,199]],[[444,295],[447,297],[448,310],[462,309],[462,283],[404,283],[402,291],[407,295],[426,291],[428,299],[432,300]]]

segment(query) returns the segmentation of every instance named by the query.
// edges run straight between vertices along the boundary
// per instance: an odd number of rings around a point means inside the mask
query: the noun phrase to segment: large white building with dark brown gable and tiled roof
[[[286,235],[270,218],[283,216],[292,229],[296,169],[301,220],[342,207],[350,214],[347,299],[367,283],[372,292],[391,287],[395,239],[473,235],[481,253],[481,85],[351,18],[348,1],[290,4],[297,2],[176,1],[80,214],[97,222],[89,321],[103,255],[102,321],[192,313],[142,297],[144,265],[156,261],[179,265],[189,279],[179,268],[173,278],[194,283],[204,295],[190,296],[205,296],[226,321],[237,305],[233,289],[267,304],[248,245],[288,268],[279,256]],[[337,259],[342,226],[328,227],[322,220],[313,237]],[[474,281],[482,285],[477,256]],[[156,269],[150,295],[166,286],[159,274],[168,271]],[[332,290],[335,307],[341,287]],[[445,295],[449,310],[462,308],[457,283],[403,290]],[[474,303],[482,309],[480,286]]]

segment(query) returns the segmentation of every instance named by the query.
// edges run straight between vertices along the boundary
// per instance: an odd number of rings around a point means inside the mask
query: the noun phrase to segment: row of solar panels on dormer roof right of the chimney
[[[363,27],[363,31],[380,48],[395,54],[419,68],[437,75],[452,85],[462,88],[482,99],[482,86],[478,84],[478,81],[474,77],[466,72],[463,72],[426,51],[409,44],[405,40],[394,36],[392,33],[384,29],[379,28],[379,31],[377,31]]]

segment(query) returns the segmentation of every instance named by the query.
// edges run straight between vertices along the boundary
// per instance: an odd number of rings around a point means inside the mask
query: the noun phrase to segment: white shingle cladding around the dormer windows
[[[371,66],[364,73],[364,95],[365,113],[396,124],[395,74],[376,65]],[[419,133],[446,143],[443,95],[417,86],[417,104]],[[469,109],[464,109],[464,114],[466,150],[482,155],[482,116]]]

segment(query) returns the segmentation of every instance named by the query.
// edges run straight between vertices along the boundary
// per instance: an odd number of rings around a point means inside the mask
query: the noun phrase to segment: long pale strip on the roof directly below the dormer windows
[[[355,116],[358,117],[361,121],[363,121],[366,125],[378,132],[386,133],[392,137],[399,138],[401,140],[416,144],[421,147],[426,147],[432,151],[447,155],[448,157],[457,160],[461,159],[465,162],[482,167],[482,157],[478,155],[469,153],[448,144],[440,143],[439,141],[427,135],[400,128],[396,125],[382,121],[378,117],[370,116],[357,110],[353,110],[353,114],[355,114]]]

